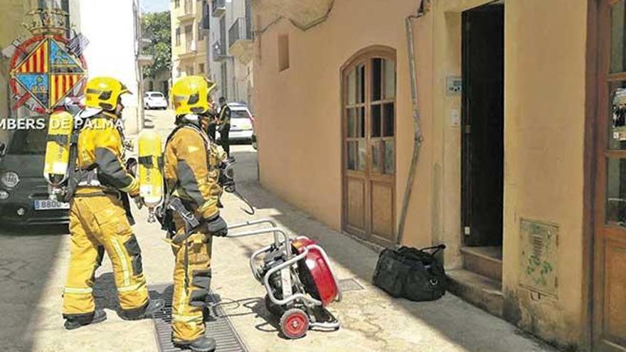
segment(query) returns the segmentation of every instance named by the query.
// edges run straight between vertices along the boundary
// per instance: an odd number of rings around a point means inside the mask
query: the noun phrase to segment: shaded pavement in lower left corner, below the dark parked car
[[[45,314],[38,304],[67,233],[67,226],[0,228],[0,346],[4,351],[33,350],[33,327]]]

